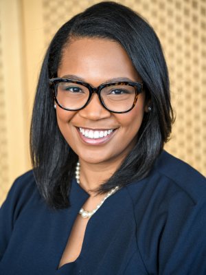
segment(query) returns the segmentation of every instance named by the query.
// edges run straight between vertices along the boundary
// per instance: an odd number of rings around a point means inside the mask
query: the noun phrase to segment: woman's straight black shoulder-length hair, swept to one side
[[[78,155],[62,136],[56,120],[49,78],[57,76],[64,47],[72,38],[101,38],[124,47],[145,83],[151,111],[144,113],[138,142],[96,194],[147,177],[168,142],[174,115],[168,68],[155,31],[139,14],[119,3],[92,5],[62,25],[49,45],[38,80],[30,132],[30,151],[38,189],[49,208],[68,208],[69,190]]]

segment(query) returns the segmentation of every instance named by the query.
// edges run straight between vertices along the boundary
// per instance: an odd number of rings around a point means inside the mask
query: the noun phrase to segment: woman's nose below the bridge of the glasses
[[[109,118],[111,116],[111,112],[106,110],[97,94],[93,94],[91,96],[91,100],[87,106],[79,111],[79,115],[82,118],[87,118],[88,120],[100,120],[102,118]]]

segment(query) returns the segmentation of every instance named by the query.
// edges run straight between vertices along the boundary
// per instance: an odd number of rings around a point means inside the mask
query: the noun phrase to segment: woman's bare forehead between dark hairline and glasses
[[[124,48],[105,39],[78,39],[65,47],[58,77],[66,74],[81,76],[87,82],[104,83],[110,78],[139,80],[139,75]]]

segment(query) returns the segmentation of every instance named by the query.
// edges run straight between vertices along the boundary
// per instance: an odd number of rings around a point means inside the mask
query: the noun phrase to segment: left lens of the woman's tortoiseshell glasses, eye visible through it
[[[56,98],[66,109],[80,109],[89,98],[89,89],[76,83],[60,82],[56,85]]]

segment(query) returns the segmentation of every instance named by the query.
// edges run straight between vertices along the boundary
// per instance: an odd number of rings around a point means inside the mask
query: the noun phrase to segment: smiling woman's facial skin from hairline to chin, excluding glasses
[[[115,81],[142,82],[122,46],[104,39],[72,41],[62,56],[58,77],[81,80],[93,87]],[[137,142],[144,111],[148,112],[145,98],[145,92],[139,94],[137,104],[128,113],[111,113],[102,107],[97,94],[93,94],[87,107],[80,111],[65,111],[56,106],[58,126],[84,162],[121,162]],[[84,137],[80,128],[87,132],[115,131],[94,139]]]

